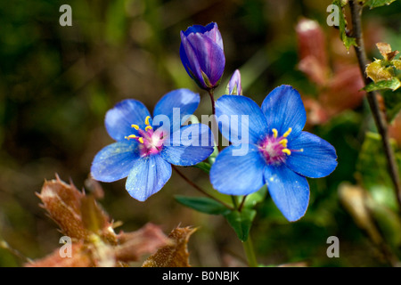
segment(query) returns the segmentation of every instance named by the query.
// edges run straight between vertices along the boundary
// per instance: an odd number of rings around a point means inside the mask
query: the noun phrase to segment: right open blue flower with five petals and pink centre
[[[236,120],[220,125],[233,144],[218,154],[211,167],[215,189],[247,195],[266,184],[283,216],[291,222],[304,216],[309,203],[306,176],[330,175],[337,167],[337,155],[329,142],[302,131],[307,115],[298,91],[281,85],[266,96],[261,108],[248,97],[223,95],[216,102],[216,113],[217,118],[226,115]]]

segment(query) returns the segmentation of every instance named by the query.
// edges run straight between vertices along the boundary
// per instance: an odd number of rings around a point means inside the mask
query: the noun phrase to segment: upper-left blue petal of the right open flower
[[[268,134],[265,115],[248,97],[221,96],[216,102],[216,115],[221,134],[234,145],[258,143]]]

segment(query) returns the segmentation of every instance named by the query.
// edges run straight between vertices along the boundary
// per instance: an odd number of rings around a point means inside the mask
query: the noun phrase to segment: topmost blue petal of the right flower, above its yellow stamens
[[[307,122],[307,112],[300,94],[291,85],[281,85],[268,94],[262,103],[262,110],[266,115],[267,125],[271,130],[275,128],[279,135],[284,134],[291,127],[292,132],[287,137],[290,141],[299,136]]]

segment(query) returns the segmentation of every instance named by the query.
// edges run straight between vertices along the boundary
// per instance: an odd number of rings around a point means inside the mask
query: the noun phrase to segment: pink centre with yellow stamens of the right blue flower
[[[292,128],[290,127],[287,132],[278,135],[278,131],[272,129],[273,136],[267,135],[266,139],[259,144],[259,150],[262,152],[266,159],[267,164],[281,164],[288,156],[291,155],[291,151],[304,151],[301,150],[290,150],[287,147],[287,136],[291,134]]]

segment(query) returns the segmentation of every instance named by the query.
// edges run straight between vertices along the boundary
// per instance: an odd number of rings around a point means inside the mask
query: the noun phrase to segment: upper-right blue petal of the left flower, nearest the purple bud
[[[198,108],[201,97],[188,89],[177,89],[165,94],[153,110],[154,125],[169,125],[169,132],[179,130],[181,125]],[[167,120],[167,121],[166,121]],[[160,123],[160,122],[162,123]],[[167,126],[166,125],[166,126]],[[155,126],[155,129],[158,127]]]

